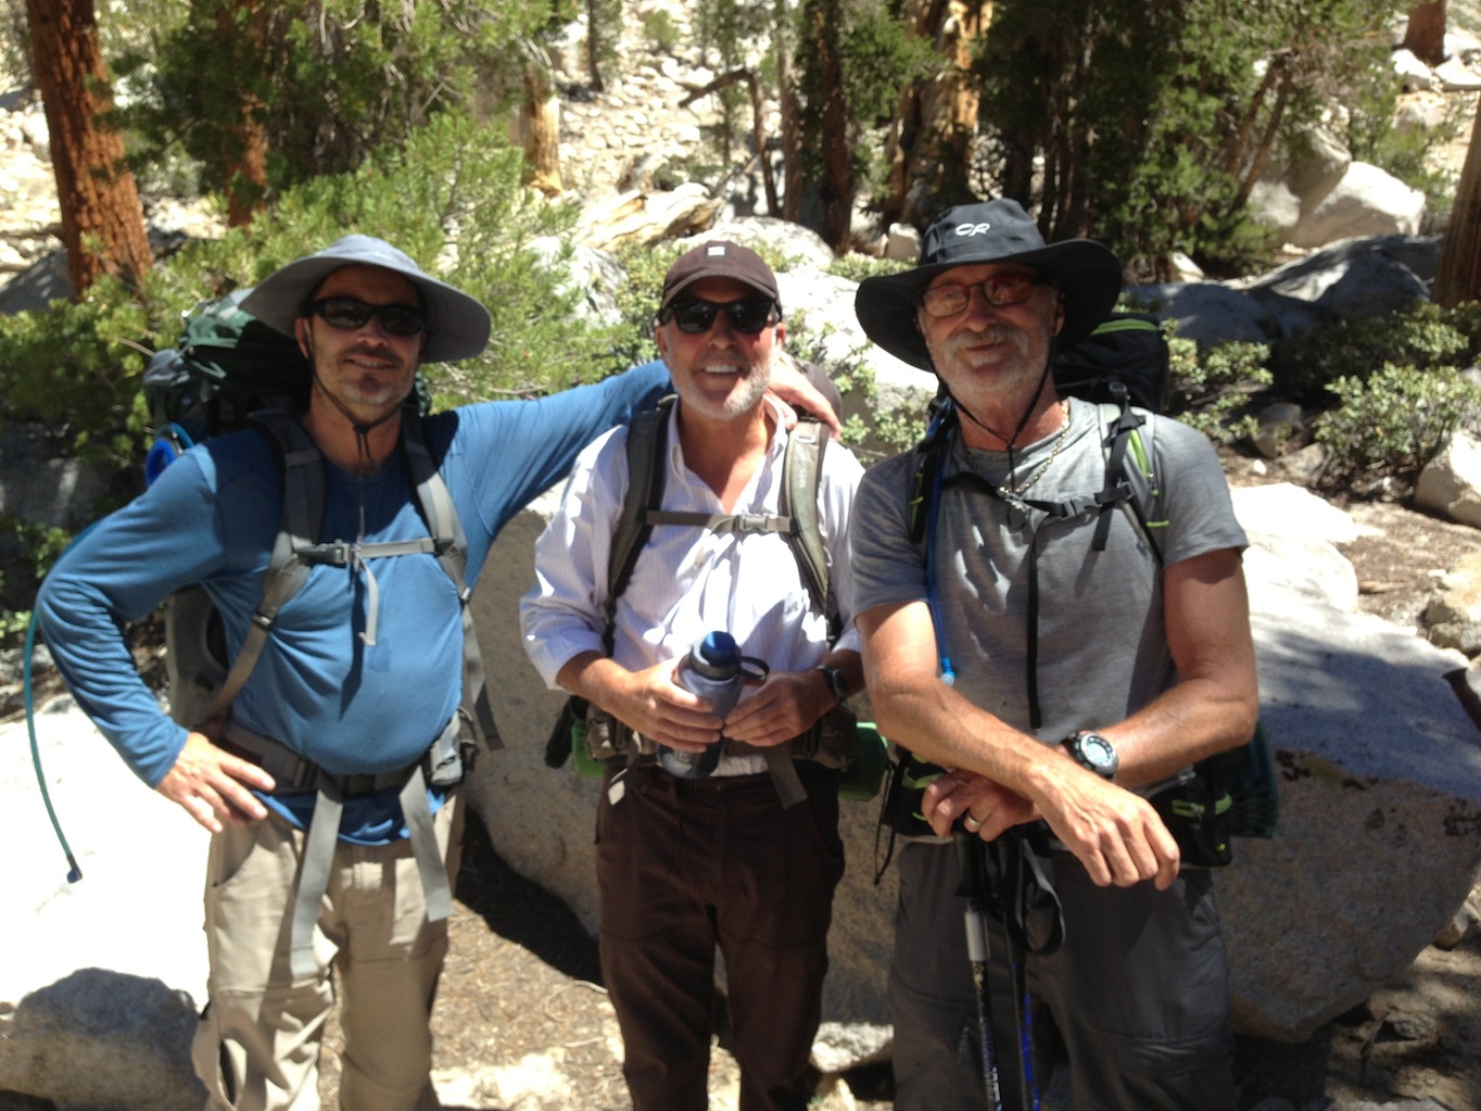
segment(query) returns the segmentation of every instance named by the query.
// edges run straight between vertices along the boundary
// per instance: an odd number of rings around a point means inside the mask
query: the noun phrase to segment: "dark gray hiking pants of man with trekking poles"
[[[1066,852],[1053,853],[1053,865],[1065,944],[1026,960],[1040,1090],[1053,1052],[1068,1058],[1075,1111],[1234,1111],[1228,969],[1208,871],[1185,870],[1158,892],[1149,883],[1096,887]],[[899,877],[890,969],[896,1111],[977,1111],[986,1105],[983,1059],[952,847],[905,846]],[[1006,938],[994,929],[1003,1105],[1019,1108],[1006,957]]]

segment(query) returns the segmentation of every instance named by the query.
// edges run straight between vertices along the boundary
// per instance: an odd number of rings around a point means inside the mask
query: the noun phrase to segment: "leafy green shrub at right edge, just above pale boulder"
[[[1317,425],[1317,441],[1327,450],[1323,481],[1358,493],[1389,480],[1413,484],[1457,428],[1481,418],[1481,387],[1453,366],[1385,363],[1327,388],[1339,403]]]

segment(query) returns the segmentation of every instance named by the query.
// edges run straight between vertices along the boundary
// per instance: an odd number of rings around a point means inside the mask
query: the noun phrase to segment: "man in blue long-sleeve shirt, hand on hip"
[[[456,785],[428,767],[422,790],[421,776],[429,745],[456,735],[464,606],[435,554],[361,553],[428,536],[398,449],[403,425],[416,419],[403,406],[418,364],[484,348],[489,314],[367,236],[290,262],[243,310],[296,336],[312,364],[299,419],[323,458],[318,539],[344,541],[348,563],[308,569],[225,724],[187,729],[160,711],[120,625],[198,584],[234,656],[262,598],[283,478],[268,438],[243,431],[188,452],[101,521],[58,563],[37,606],[83,710],[141,779],[213,834],[210,1003],[194,1052],[207,1108],[315,1101],[338,969],[341,1107],[410,1110],[431,1095],[428,1018],[447,948],[461,818]],[[467,536],[469,588],[505,521],[589,440],[666,388],[665,367],[650,363],[538,401],[421,421]],[[816,400],[806,385],[789,393]],[[264,764],[293,769],[292,782],[274,782]],[[314,837],[315,813],[338,819],[318,824],[338,837],[323,828]],[[419,815],[421,853],[409,830]],[[318,864],[315,841],[327,841]],[[446,871],[428,868],[428,853]],[[314,868],[317,884],[307,878]],[[437,890],[443,898],[429,907],[427,895]]]

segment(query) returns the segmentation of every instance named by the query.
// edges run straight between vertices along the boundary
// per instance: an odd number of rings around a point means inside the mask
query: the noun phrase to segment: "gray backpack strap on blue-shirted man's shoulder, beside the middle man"
[[[458,713],[464,727],[489,748],[502,748],[499,729],[493,723],[493,708],[489,705],[487,675],[483,667],[483,652],[478,647],[478,633],[472,621],[472,590],[467,582],[468,539],[453,505],[447,483],[432,461],[422,437],[422,418],[415,409],[403,410],[401,450],[406,456],[407,474],[416,490],[416,504],[422,510],[427,527],[432,533],[434,554],[447,578],[458,590],[458,604],[462,610],[464,628],[464,674],[462,705]]]

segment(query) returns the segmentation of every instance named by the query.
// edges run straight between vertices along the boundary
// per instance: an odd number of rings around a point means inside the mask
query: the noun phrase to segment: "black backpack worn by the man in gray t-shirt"
[[[935,533],[940,492],[948,484],[979,487],[1019,510],[1040,510],[1049,517],[1097,514],[1094,551],[1103,551],[1111,514],[1126,513],[1158,567],[1163,561],[1160,530],[1167,527],[1163,513],[1160,477],[1155,468],[1155,415],[1170,393],[1167,339],[1152,317],[1112,313],[1090,336],[1057,354],[1050,373],[1060,396],[1094,403],[1100,418],[1100,443],[1105,453],[1105,483],[1099,492],[1057,502],[1023,498],[991,486],[974,474],[943,480],[943,459],[954,436],[957,413],[945,391],[932,403],[932,421],[917,450],[909,493],[911,542],[924,553],[927,600],[937,630]],[[1038,548],[1031,547],[1029,575],[1037,575]],[[1031,595],[1037,590],[1031,587]],[[1041,726],[1037,678],[1037,609],[1031,604],[1026,692],[1029,727]],[[954,681],[955,671],[946,646],[940,646],[942,680]],[[942,769],[900,748],[886,794],[881,825],[903,835],[927,835],[930,827],[920,813],[920,797]],[[1180,776],[1152,800],[1189,864],[1222,865],[1232,859],[1228,838],[1271,837],[1278,816],[1278,797],[1269,745],[1260,729],[1235,750],[1220,753],[1195,766],[1192,776]],[[886,864],[889,858],[886,858]],[[883,865],[881,865],[883,874]]]

